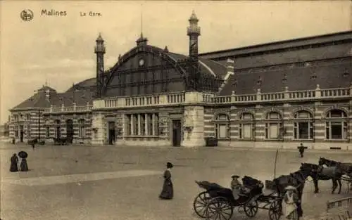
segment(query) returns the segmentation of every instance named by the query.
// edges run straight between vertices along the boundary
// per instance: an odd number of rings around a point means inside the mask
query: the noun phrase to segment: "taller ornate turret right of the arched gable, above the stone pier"
[[[198,27],[198,18],[194,11],[189,18],[187,35],[189,36],[189,57],[198,59],[198,37],[201,35],[201,27]]]

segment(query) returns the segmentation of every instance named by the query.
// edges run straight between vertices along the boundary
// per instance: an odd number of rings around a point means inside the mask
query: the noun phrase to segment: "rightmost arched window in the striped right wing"
[[[347,114],[343,110],[333,109],[327,112],[325,137],[327,140],[347,139]]]

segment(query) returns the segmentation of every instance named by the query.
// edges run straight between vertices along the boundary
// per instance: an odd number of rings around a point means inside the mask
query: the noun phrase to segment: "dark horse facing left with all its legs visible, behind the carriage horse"
[[[332,180],[332,194],[335,192],[337,188],[337,183],[339,183],[339,193],[341,193],[341,170],[338,167],[322,167],[322,165],[318,164],[309,164],[309,163],[302,163],[299,169],[310,169],[310,177],[312,177],[314,182],[314,193],[319,193],[319,180]]]

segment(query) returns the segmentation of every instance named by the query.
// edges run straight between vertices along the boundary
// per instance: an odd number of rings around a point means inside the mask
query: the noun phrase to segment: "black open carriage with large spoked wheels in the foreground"
[[[249,188],[249,193],[241,193],[237,200],[234,199],[230,188],[208,181],[196,181],[200,188],[205,189],[194,199],[196,214],[207,220],[230,220],[234,207],[238,207],[239,212],[243,209],[249,217],[256,216],[258,209],[266,209],[269,210],[271,220],[278,220],[282,213],[282,198],[274,195],[275,191],[269,195],[263,194],[263,183],[250,176],[244,176],[242,181],[244,186]]]

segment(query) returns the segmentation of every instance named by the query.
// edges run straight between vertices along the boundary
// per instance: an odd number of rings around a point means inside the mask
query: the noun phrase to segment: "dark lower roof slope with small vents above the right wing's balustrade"
[[[311,76],[315,72],[316,78]],[[348,75],[344,76],[344,72]],[[286,73],[286,82],[284,79]],[[258,80],[261,79],[261,84]],[[235,83],[236,82],[236,83]],[[256,93],[260,89],[262,93],[284,91],[285,86],[289,91],[315,89],[317,84],[320,89],[332,89],[348,87],[352,82],[352,63],[332,63],[311,67],[294,67],[291,70],[268,70],[268,71],[242,71],[231,75],[225,84],[220,96],[230,96],[232,91],[236,94]]]

